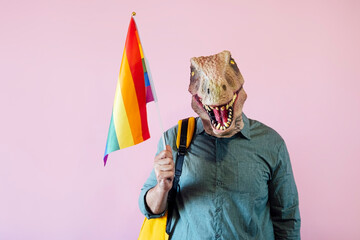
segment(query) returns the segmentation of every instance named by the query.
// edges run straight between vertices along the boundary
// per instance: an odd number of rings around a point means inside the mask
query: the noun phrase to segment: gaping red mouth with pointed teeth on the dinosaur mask
[[[201,103],[207,112],[214,129],[224,131],[231,126],[234,116],[234,102],[236,101],[239,91],[234,93],[232,99],[224,105],[206,105],[202,103],[197,95],[195,96],[196,100]]]

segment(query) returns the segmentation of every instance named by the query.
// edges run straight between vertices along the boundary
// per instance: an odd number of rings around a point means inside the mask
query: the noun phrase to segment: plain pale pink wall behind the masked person
[[[136,239],[160,137],[102,165],[130,15],[165,128],[194,116],[189,59],[230,50],[245,113],[286,140],[302,239],[360,239],[359,1],[2,1],[0,239]]]

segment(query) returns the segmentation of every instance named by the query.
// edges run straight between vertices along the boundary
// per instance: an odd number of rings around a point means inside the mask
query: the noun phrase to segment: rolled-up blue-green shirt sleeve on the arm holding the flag
[[[158,155],[161,151],[162,151],[162,142],[161,139],[158,143],[158,147],[157,147],[157,152],[156,155]],[[151,218],[158,218],[158,217],[162,217],[165,215],[165,211],[161,214],[153,214],[150,210],[150,208],[147,206],[145,198],[146,198],[146,194],[147,192],[152,189],[153,187],[155,187],[157,184],[157,180],[156,180],[156,176],[155,176],[155,171],[154,169],[151,171],[150,176],[148,177],[148,179],[146,180],[146,182],[144,183],[143,187],[141,188],[141,192],[140,192],[140,196],[139,196],[139,208],[140,211],[142,212],[142,214],[145,215],[145,217],[147,219],[151,219]]]

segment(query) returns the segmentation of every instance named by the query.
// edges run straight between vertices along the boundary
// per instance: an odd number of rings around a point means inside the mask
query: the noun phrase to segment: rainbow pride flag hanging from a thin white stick
[[[153,92],[155,93],[150,84],[139,33],[132,16],[116,86],[104,166],[109,153],[150,138],[146,103],[154,101]]]

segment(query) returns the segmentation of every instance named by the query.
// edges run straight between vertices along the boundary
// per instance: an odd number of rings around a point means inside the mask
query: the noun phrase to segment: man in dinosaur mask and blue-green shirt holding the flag
[[[191,59],[199,115],[185,156],[170,239],[300,239],[297,189],[284,140],[242,112],[247,95],[229,51]],[[174,179],[177,127],[165,133],[139,206],[162,216]],[[161,146],[161,145],[159,145]]]

